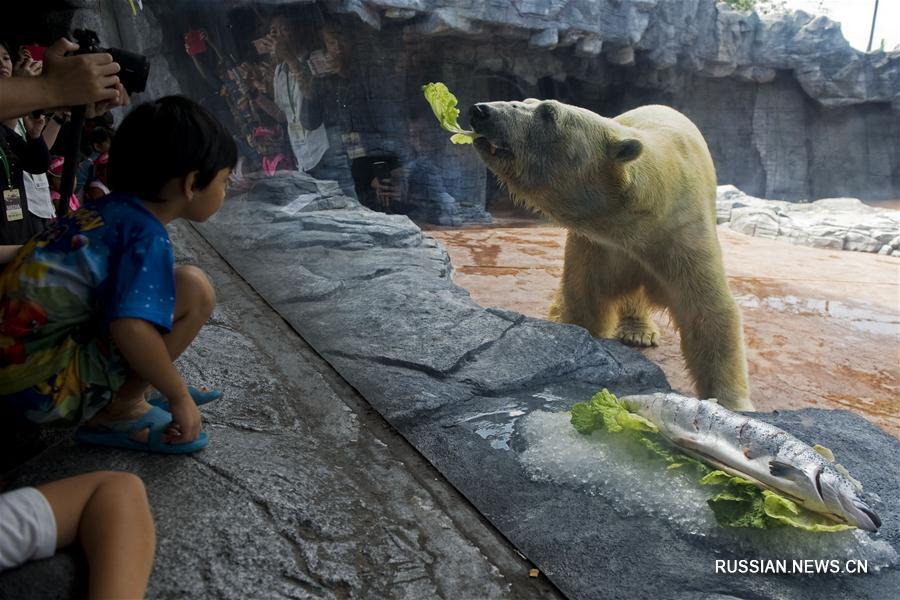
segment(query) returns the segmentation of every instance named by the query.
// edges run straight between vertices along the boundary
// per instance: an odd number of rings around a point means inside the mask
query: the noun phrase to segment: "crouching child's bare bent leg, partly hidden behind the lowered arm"
[[[172,331],[163,336],[169,356],[174,361],[190,345],[200,328],[209,320],[216,305],[216,292],[206,274],[192,266],[175,268],[175,315]],[[137,419],[150,405],[144,400],[149,383],[136,373],[129,373],[125,384],[116,392],[113,401],[98,413],[88,426],[112,421]],[[141,432],[146,438],[146,432]]]

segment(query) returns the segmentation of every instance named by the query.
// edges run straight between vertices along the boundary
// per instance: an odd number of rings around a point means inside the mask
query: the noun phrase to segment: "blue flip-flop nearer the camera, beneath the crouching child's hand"
[[[113,446],[159,454],[190,454],[206,447],[206,444],[209,443],[206,433],[201,431],[200,436],[193,442],[167,444],[164,438],[166,428],[171,422],[171,413],[158,406],[153,406],[144,416],[134,421],[116,421],[99,427],[81,426],[75,432],[75,439],[84,444]],[[146,443],[131,439],[133,433],[148,428],[150,431]]]

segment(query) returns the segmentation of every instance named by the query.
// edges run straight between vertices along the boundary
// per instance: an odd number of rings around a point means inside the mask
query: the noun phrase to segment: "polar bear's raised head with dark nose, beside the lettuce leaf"
[[[590,209],[573,199],[586,188],[606,196],[627,184],[626,165],[643,151],[611,119],[556,100],[481,102],[469,120],[481,160],[513,197],[557,220]]]

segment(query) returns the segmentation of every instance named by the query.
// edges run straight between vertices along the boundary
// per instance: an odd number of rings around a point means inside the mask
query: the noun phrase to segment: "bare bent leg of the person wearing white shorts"
[[[90,566],[88,597],[143,598],[156,531],[141,479],[101,471],[37,489],[56,518],[56,547],[81,540]]]

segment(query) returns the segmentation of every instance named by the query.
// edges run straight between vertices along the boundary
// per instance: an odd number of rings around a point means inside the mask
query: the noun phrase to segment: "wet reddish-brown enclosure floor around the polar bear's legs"
[[[543,318],[562,273],[565,231],[535,225],[507,215],[489,228],[428,233],[447,247],[455,282],[477,302]],[[757,409],[845,408],[900,437],[900,259],[723,228],[719,240]],[[690,393],[678,333],[667,315],[656,317],[662,342],[642,352]]]

